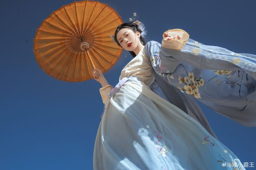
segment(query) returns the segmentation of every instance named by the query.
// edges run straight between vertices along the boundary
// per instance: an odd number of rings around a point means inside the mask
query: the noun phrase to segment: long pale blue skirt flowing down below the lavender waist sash
[[[237,156],[191,116],[143,82],[128,80],[100,121],[94,170],[245,170]]]

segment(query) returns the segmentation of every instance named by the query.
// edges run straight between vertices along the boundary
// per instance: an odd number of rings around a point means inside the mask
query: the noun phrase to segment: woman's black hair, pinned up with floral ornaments
[[[120,24],[120,25],[116,28],[116,30],[115,30],[115,42],[116,42],[117,45],[119,45],[120,47],[122,47],[122,46],[121,46],[120,43],[118,42],[118,40],[117,40],[117,38],[116,38],[116,35],[117,35],[117,33],[120,31],[120,29],[122,29],[122,28],[129,28],[129,29],[131,29],[134,33],[136,33],[137,31],[139,31],[140,33],[142,33],[141,29],[138,28],[138,25],[135,24],[135,23],[133,23],[133,22]],[[140,36],[140,40],[141,40],[141,42],[142,42],[142,45],[145,46],[145,45],[146,45],[145,39],[144,39],[142,36]],[[129,52],[130,52],[130,51],[129,51]],[[130,54],[131,54],[132,57],[136,57],[135,52],[130,52]]]

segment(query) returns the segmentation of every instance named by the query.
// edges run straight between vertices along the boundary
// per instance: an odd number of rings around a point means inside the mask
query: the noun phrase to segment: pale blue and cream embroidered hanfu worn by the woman
[[[100,88],[105,110],[93,169],[245,170],[211,131],[195,99],[255,126],[255,56],[191,39],[182,50],[162,45],[148,42],[114,88]]]

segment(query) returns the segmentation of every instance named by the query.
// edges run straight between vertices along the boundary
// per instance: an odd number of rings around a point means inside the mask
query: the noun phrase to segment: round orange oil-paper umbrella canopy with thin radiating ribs
[[[123,21],[99,1],[79,1],[54,11],[37,29],[35,60],[55,79],[92,79],[93,68],[103,73],[119,59],[122,49],[111,35]]]

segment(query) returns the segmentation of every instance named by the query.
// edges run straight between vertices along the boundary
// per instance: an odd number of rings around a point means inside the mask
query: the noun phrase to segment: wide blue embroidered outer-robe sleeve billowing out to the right
[[[145,52],[156,74],[185,96],[245,126],[256,126],[256,55],[235,53],[192,39],[181,51],[161,48],[160,43],[150,41]],[[184,78],[189,76],[191,79],[185,84]],[[187,86],[195,87],[195,82],[197,95]],[[163,93],[167,96],[169,92]]]

